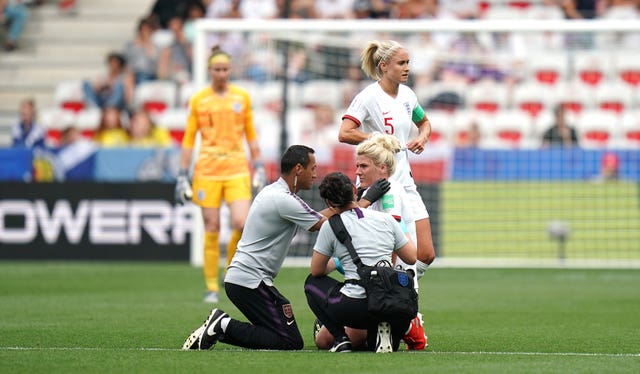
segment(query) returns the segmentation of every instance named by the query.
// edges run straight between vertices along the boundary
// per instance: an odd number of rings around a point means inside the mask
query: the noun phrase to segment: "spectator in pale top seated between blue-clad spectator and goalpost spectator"
[[[138,22],[136,37],[125,44],[124,55],[129,75],[136,85],[158,77],[160,48],[153,43],[152,35],[155,30],[152,19],[142,18]]]

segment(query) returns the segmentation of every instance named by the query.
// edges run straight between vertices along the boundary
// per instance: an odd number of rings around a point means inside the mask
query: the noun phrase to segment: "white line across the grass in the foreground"
[[[98,347],[0,347],[0,351],[181,351],[180,348],[98,348]],[[242,352],[244,349],[224,349]],[[266,352],[266,350],[265,350]],[[291,351],[291,353],[322,352],[320,350]],[[413,354],[420,354],[414,351]],[[425,354],[438,355],[494,355],[494,356],[584,356],[584,357],[640,357],[640,353],[597,353],[597,352],[448,352],[429,351]]]

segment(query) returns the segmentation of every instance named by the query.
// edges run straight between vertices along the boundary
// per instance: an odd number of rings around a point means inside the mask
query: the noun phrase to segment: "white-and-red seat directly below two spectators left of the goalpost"
[[[176,106],[178,87],[173,81],[146,81],[134,91],[134,106],[150,113],[161,113]]]

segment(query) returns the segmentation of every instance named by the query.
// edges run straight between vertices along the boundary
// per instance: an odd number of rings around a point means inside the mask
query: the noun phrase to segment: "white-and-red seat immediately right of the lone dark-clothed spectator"
[[[583,112],[575,123],[578,142],[582,148],[612,148],[617,139],[619,117],[611,112],[592,109]]]

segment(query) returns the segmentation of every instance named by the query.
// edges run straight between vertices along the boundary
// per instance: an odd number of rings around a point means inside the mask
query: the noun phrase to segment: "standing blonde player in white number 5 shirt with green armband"
[[[435,259],[429,213],[411,174],[408,152],[420,154],[429,140],[431,124],[406,83],[409,79],[409,52],[393,40],[371,41],[362,52],[362,70],[376,82],[356,95],[342,117],[338,140],[360,144],[373,132],[395,136],[402,146],[396,153],[396,171],[390,180],[407,192],[415,218],[418,261],[417,277],[424,275]],[[413,127],[418,136],[410,139]]]

